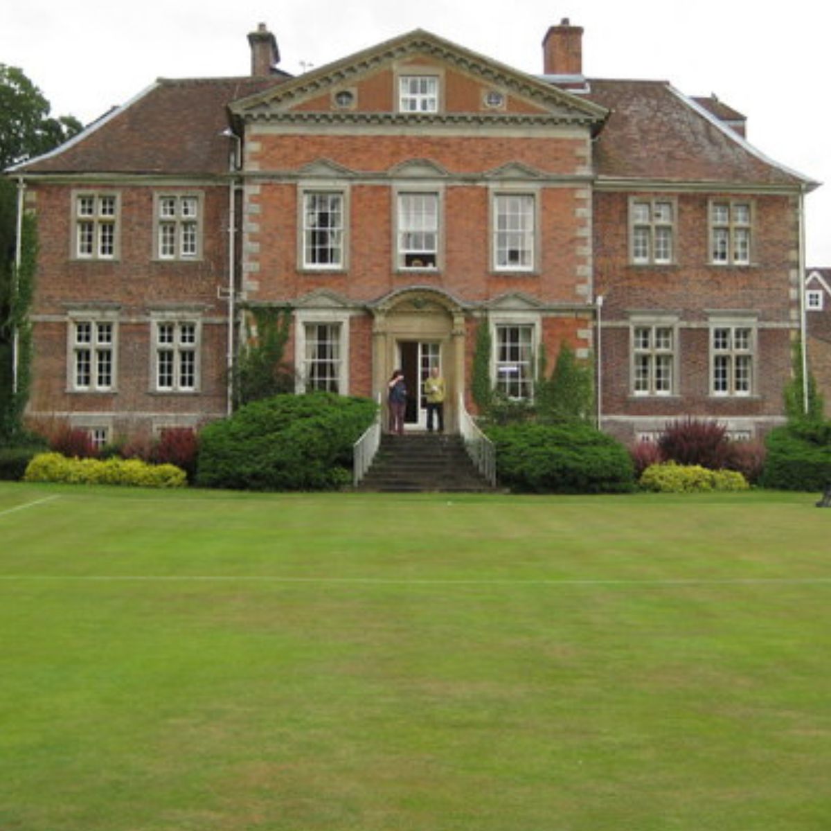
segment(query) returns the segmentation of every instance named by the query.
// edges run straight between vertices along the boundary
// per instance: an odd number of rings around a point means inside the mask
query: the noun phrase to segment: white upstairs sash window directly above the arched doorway
[[[396,190],[395,215],[395,267],[398,271],[438,271],[441,268],[443,199],[435,188],[408,188]],[[430,199],[434,204],[430,211],[408,213],[406,205],[413,200]],[[416,244],[418,238],[422,244]],[[432,240],[430,241],[430,237]],[[430,244],[431,242],[431,244]]]

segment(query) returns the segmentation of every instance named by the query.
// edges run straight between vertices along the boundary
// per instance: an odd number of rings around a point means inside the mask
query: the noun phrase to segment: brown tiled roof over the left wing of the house
[[[219,175],[228,170],[231,101],[286,76],[160,79],[61,148],[17,165],[24,174]]]

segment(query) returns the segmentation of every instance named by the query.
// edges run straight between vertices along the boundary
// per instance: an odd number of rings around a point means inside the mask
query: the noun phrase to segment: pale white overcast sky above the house
[[[588,76],[715,93],[748,117],[748,139],[765,155],[828,182],[806,200],[807,247],[809,266],[831,267],[831,12],[822,0],[4,0],[0,63],[21,68],[52,115],[86,123],[158,77],[247,75],[246,35],[259,22],[291,74],[415,28],[540,73],[543,36],[563,17],[585,29]]]

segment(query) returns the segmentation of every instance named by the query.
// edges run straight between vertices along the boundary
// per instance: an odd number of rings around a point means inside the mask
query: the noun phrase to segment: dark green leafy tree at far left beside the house
[[[42,92],[14,66],[0,63],[0,172],[61,145],[83,129],[72,116],[52,118]],[[26,293],[14,290],[17,235],[17,188],[0,176],[0,410],[12,401],[12,338],[25,321]],[[22,411],[21,402],[11,411]],[[6,419],[3,419],[5,422]],[[19,426],[19,425],[17,425]],[[0,432],[15,425],[0,425]],[[2,436],[0,436],[2,438]]]

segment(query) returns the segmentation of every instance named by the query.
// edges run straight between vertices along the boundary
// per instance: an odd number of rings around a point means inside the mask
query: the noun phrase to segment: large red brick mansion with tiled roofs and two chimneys
[[[438,362],[451,427],[482,325],[512,395],[543,348],[593,361],[626,440],[777,423],[813,183],[706,100],[584,79],[581,37],[552,27],[541,77],[413,32],[293,79],[261,27],[252,78],[160,81],[14,171],[41,242],[32,420],[112,440],[223,416],[264,306],[292,311],[300,388],[379,396]]]

